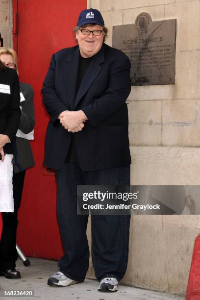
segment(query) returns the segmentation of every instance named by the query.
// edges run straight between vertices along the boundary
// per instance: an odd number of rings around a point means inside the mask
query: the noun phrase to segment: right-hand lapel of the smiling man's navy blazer
[[[90,66],[81,82],[80,88],[75,98],[74,108],[77,106],[81,98],[86,94],[95,78],[99,75],[102,67],[101,63],[104,62],[104,45],[102,45],[100,51],[95,55],[91,61]]]

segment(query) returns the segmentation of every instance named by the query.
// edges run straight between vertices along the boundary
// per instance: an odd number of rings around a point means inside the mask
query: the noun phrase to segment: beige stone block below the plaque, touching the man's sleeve
[[[161,145],[161,101],[128,103],[130,145]]]

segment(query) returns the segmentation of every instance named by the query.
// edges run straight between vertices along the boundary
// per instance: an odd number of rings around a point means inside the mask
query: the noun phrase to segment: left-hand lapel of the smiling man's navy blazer
[[[78,74],[80,51],[79,47],[75,49],[70,57],[64,61],[63,73],[66,88],[66,101],[69,103],[70,109],[74,110],[75,93],[76,93],[76,80]]]

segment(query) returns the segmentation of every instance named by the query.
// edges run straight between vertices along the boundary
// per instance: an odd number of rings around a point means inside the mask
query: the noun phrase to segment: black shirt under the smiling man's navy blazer
[[[87,57],[87,58],[80,56],[77,81],[76,81],[76,95],[78,93],[81,82],[89,68],[89,65],[90,65],[92,59],[93,59],[93,56]],[[71,140],[70,148],[67,153],[65,162],[77,162],[78,161],[77,154],[76,154],[76,148],[75,148],[75,134],[76,134],[76,132],[72,133],[72,140]]]

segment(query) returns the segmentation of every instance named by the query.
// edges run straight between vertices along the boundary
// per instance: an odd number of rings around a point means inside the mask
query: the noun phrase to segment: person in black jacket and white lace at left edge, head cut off
[[[0,61],[0,212],[13,212],[13,140],[20,123],[20,88],[15,70]],[[1,234],[0,221],[0,234]]]

